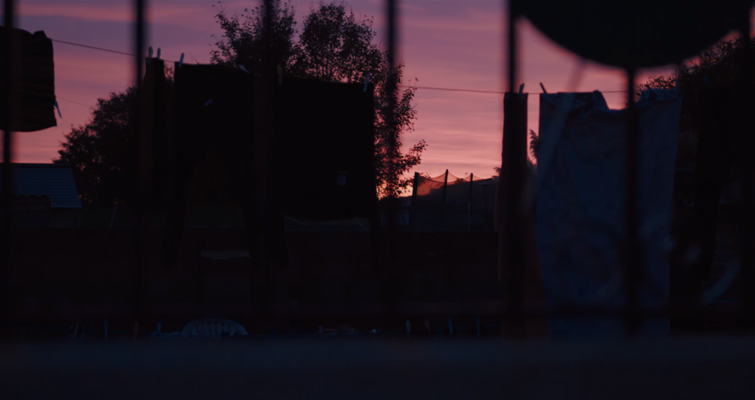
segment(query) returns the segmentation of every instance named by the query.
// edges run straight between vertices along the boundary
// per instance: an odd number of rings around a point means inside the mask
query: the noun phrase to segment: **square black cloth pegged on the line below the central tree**
[[[276,88],[275,159],[283,212],[377,223],[372,87],[285,78]]]

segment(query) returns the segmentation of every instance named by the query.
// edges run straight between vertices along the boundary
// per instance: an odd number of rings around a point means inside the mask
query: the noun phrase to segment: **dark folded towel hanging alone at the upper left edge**
[[[0,129],[10,128],[16,132],[33,132],[57,125],[55,120],[55,64],[52,41],[44,32],[33,34],[14,30],[19,43],[19,53],[14,58],[20,79],[16,82],[16,120],[12,126],[0,121]],[[0,41],[5,41],[8,29],[0,27]],[[0,54],[0,73],[8,68],[8,55]],[[0,85],[3,83],[0,82]],[[0,99],[0,107],[5,99]]]

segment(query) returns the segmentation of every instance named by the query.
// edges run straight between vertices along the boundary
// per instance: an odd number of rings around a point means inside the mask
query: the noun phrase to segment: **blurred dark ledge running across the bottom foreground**
[[[755,340],[0,344],[0,399],[752,399]]]

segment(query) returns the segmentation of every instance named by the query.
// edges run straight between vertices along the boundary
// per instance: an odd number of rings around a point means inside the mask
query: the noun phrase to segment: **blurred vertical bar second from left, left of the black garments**
[[[136,54],[136,65],[134,66],[134,74],[135,74],[135,82],[136,82],[136,92],[137,96],[134,101],[134,134],[132,135],[134,143],[134,148],[136,149],[136,155],[134,159],[134,171],[136,176],[136,184],[133,186],[134,190],[136,191],[134,193],[134,197],[136,198],[136,201],[134,202],[134,211],[135,211],[135,219],[134,219],[134,231],[133,231],[133,240],[134,240],[134,293],[133,293],[133,319],[134,319],[134,339],[136,339],[137,335],[139,334],[139,319],[141,318],[142,314],[142,259],[144,254],[144,242],[143,242],[143,236],[144,236],[144,191],[142,190],[141,185],[141,171],[138,168],[138,166],[141,163],[141,143],[140,137],[139,137],[139,129],[141,126],[141,102],[140,102],[140,93],[141,93],[141,80],[143,75],[143,65],[144,65],[144,14],[145,14],[145,1],[146,0],[134,0],[134,11],[136,13],[135,15],[135,22],[134,22],[134,54]]]

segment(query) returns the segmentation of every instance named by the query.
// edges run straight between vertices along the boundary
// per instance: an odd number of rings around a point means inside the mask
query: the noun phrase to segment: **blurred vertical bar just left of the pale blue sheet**
[[[516,80],[517,80],[517,35],[516,35],[516,22],[519,17],[519,9],[518,9],[518,3],[517,0],[508,0],[507,2],[507,10],[506,10],[506,19],[507,22],[507,30],[508,30],[508,37],[507,41],[504,43],[507,43],[507,50],[508,50],[508,76],[507,76],[507,93],[508,96],[510,96],[511,101],[514,104],[514,108],[512,109],[514,112],[512,113],[513,116],[518,115],[517,108],[519,107],[519,102],[516,101],[516,99],[513,96],[516,96]],[[504,98],[504,103],[506,102],[506,99]],[[505,108],[505,104],[504,104]],[[518,124],[520,121],[517,117],[514,117],[513,120],[508,121],[509,124],[511,124],[511,130],[507,132],[518,132]],[[512,152],[506,151],[508,154],[516,153],[517,151],[524,151],[526,149],[526,137],[517,137],[514,135],[514,137],[505,137],[503,138],[504,143],[504,149],[507,146],[511,146],[514,148]],[[501,170],[501,177],[504,175],[509,176],[511,179],[511,185],[509,187],[508,193],[505,193],[505,209],[503,210],[505,221],[507,221],[505,226],[502,226],[501,229],[504,233],[504,237],[506,237],[506,240],[508,240],[510,243],[507,243],[507,246],[510,246],[510,252],[508,253],[508,257],[510,257],[510,260],[506,260],[507,264],[511,266],[510,270],[507,271],[506,274],[503,276],[503,285],[504,285],[504,294],[506,296],[506,310],[505,310],[505,318],[503,323],[504,333],[510,333],[514,336],[522,337],[524,336],[524,324],[523,324],[523,317],[524,317],[524,257],[523,257],[523,251],[522,251],[522,243],[521,243],[521,224],[519,221],[521,220],[521,211],[519,209],[519,205],[521,204],[521,195],[522,190],[518,185],[518,182],[520,181],[520,177],[522,176],[522,173],[524,171],[520,170],[519,163],[515,162],[516,160],[503,160],[502,166],[508,166],[511,170],[510,171],[503,171]],[[502,184],[503,182],[500,182],[499,184]],[[486,196],[487,197],[487,196]],[[501,201],[501,200],[499,200]],[[500,246],[501,244],[499,244]],[[500,249],[499,249],[500,254]]]

